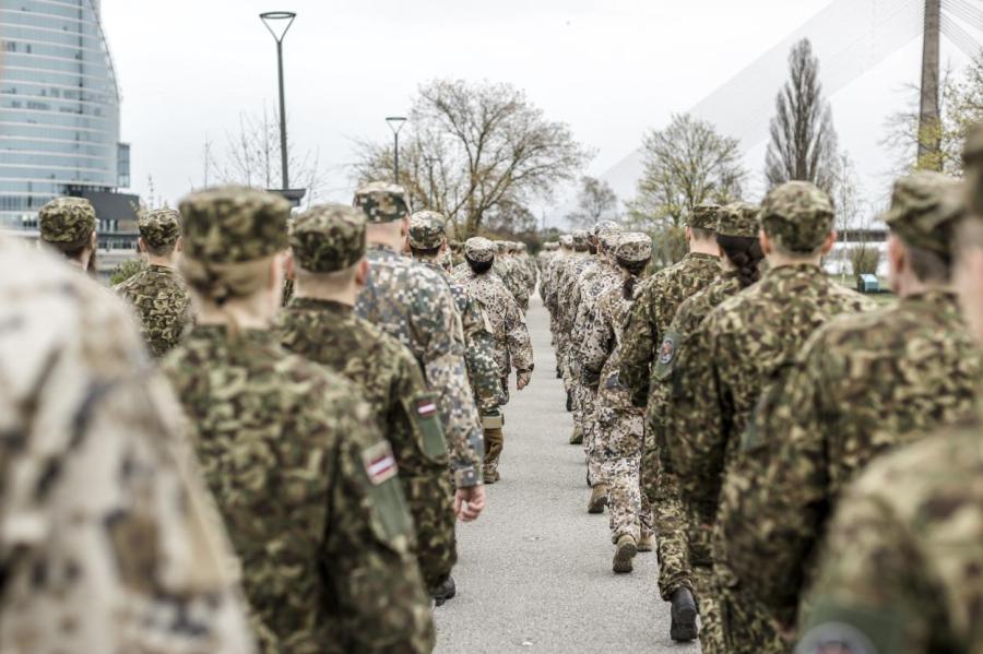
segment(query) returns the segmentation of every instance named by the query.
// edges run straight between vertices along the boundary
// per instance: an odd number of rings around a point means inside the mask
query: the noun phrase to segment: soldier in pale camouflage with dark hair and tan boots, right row
[[[652,549],[652,509],[639,486],[644,412],[632,406],[618,381],[623,325],[631,309],[635,284],[651,258],[652,239],[647,234],[618,235],[613,260],[620,271],[621,284],[605,290],[597,300],[594,320],[585,330],[580,348],[584,381],[596,388],[599,451],[592,454],[600,460],[600,476],[608,486],[615,544],[612,567],[619,573],[631,572],[631,560],[638,551]]]

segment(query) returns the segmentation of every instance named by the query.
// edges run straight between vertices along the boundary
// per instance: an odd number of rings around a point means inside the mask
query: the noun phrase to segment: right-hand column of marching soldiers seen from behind
[[[822,270],[834,207],[807,182],[696,207],[649,277],[607,223],[542,257],[588,510],[615,572],[654,540],[673,640],[983,652],[983,128],[966,166],[895,182],[891,301]]]

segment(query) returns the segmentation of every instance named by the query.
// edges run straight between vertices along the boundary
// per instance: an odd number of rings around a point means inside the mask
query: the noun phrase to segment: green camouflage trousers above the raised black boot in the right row
[[[668,602],[682,587],[692,590],[689,562],[689,514],[683,506],[679,483],[666,473],[651,438],[655,428],[646,420],[646,452],[642,457],[641,486],[654,512],[655,551],[659,555],[659,594]]]

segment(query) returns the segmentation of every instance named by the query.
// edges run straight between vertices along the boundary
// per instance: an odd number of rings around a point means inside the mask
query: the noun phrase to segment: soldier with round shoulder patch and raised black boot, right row
[[[653,366],[663,356],[663,338],[678,306],[707,287],[720,274],[715,204],[694,209],[686,228],[689,253],[677,264],[649,277],[638,289],[625,329],[620,379],[635,406],[646,407],[646,451],[642,456],[642,491],[654,510],[659,555],[659,592],[672,602],[670,634],[676,641],[697,637],[692,571],[689,564],[687,521],[673,475],[659,462],[654,444],[663,429],[665,388],[651,382]]]

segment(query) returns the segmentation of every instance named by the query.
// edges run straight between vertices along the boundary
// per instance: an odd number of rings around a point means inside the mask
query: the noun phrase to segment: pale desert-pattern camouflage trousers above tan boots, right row
[[[652,508],[639,479],[644,417],[632,409],[597,409],[594,447],[602,478],[607,483],[612,543],[624,535],[638,542],[652,535]]]

